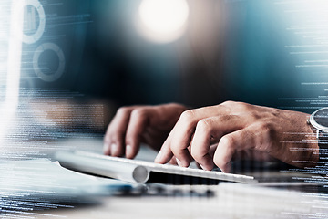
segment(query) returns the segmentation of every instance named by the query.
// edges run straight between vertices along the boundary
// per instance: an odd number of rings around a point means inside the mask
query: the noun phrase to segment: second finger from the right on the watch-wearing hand
[[[191,156],[204,170],[212,170],[214,162],[210,146],[212,139],[220,139],[224,134],[241,130],[246,123],[244,117],[236,115],[217,116],[200,120],[191,142]]]

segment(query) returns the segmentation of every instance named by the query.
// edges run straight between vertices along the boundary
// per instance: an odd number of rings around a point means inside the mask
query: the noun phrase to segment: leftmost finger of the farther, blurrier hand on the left
[[[110,122],[104,139],[104,153],[106,155],[123,155],[128,120],[133,109],[134,107],[120,108]]]

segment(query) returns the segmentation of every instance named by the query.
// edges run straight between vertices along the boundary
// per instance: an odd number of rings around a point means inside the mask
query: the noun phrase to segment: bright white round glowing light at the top
[[[143,0],[138,9],[142,36],[169,43],[183,35],[189,17],[185,0]]]

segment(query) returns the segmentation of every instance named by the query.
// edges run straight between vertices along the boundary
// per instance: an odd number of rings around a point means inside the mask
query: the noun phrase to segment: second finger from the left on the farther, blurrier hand
[[[132,110],[125,138],[127,158],[132,159],[137,155],[140,147],[141,136],[153,115],[154,112],[150,108]]]

